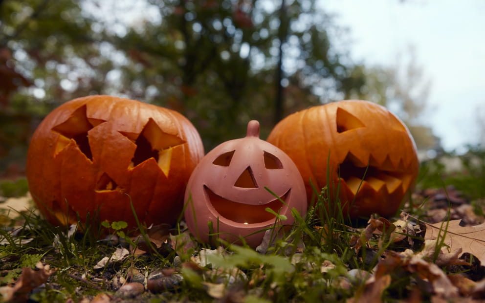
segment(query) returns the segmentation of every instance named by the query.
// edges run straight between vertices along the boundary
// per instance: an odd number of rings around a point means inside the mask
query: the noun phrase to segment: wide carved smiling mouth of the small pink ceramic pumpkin
[[[268,220],[274,220],[275,216],[265,209],[269,207],[275,213],[278,213],[282,207],[285,205],[278,199],[275,198],[269,203],[262,205],[250,205],[239,202],[234,202],[220,195],[215,194],[207,186],[204,185],[204,191],[209,199],[209,202],[214,207],[214,209],[219,213],[220,217],[229,219],[231,221],[243,224],[253,224],[262,223]],[[291,189],[282,195],[280,198],[286,201]]]

